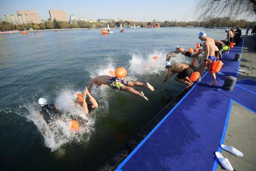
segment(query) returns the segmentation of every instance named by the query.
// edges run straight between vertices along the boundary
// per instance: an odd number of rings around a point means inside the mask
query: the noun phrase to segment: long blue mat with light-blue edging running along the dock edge
[[[223,55],[222,72],[236,76],[242,44]],[[225,137],[232,101],[216,89],[225,76],[216,75],[218,85],[209,86],[207,73],[160,121],[118,166],[118,171],[212,171],[214,152]]]

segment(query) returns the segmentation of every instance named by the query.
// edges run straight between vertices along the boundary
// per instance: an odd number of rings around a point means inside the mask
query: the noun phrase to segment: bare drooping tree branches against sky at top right
[[[195,0],[195,2],[195,12],[199,12],[200,20],[213,16],[232,16],[232,18],[240,15],[252,16],[256,12],[256,0]]]

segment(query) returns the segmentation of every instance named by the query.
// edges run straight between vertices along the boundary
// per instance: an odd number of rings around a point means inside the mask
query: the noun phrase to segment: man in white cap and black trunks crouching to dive
[[[173,64],[171,65],[170,62],[165,62],[165,67],[168,69],[168,72],[165,76],[165,79],[163,83],[165,83],[170,76],[172,76],[175,73],[178,73],[176,77],[174,78],[175,81],[178,81],[179,83],[185,83],[187,86],[186,88],[189,88],[193,84],[192,81],[188,78],[190,74],[192,74],[192,69],[189,67],[189,65],[186,64]]]

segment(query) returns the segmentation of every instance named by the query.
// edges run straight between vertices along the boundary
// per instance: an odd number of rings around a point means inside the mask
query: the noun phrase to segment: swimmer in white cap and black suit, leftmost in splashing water
[[[51,122],[60,119],[61,112],[56,108],[54,104],[47,104],[47,100],[45,98],[39,98],[38,104],[42,107],[39,112],[45,122],[49,125]],[[62,119],[63,120],[63,119]],[[49,128],[53,128],[57,124],[54,123],[49,125]]]

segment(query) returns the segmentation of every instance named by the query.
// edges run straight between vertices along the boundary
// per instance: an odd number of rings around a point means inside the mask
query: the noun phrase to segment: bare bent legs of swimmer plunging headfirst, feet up
[[[76,93],[76,95],[78,95],[78,93]],[[86,96],[88,97],[88,100],[91,102],[90,104],[87,104]],[[75,105],[80,105],[83,108],[85,114],[88,114],[90,111],[92,111],[92,109],[96,109],[99,105],[95,98],[93,98],[92,95],[89,93],[87,87],[85,87],[85,90],[83,90],[83,98],[80,100],[78,97],[74,103]]]

